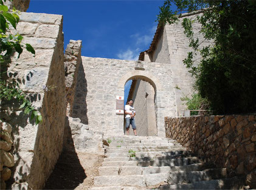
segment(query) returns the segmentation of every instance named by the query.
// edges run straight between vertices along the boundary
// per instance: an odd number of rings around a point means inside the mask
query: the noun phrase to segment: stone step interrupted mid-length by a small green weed
[[[182,154],[182,152],[187,151],[186,148],[178,148],[178,149],[173,149],[172,151],[154,151],[154,152],[136,152],[136,157],[168,157],[171,155],[175,155],[175,154]],[[107,153],[105,154],[106,157],[110,158],[110,157],[130,157],[130,154],[127,153]]]

